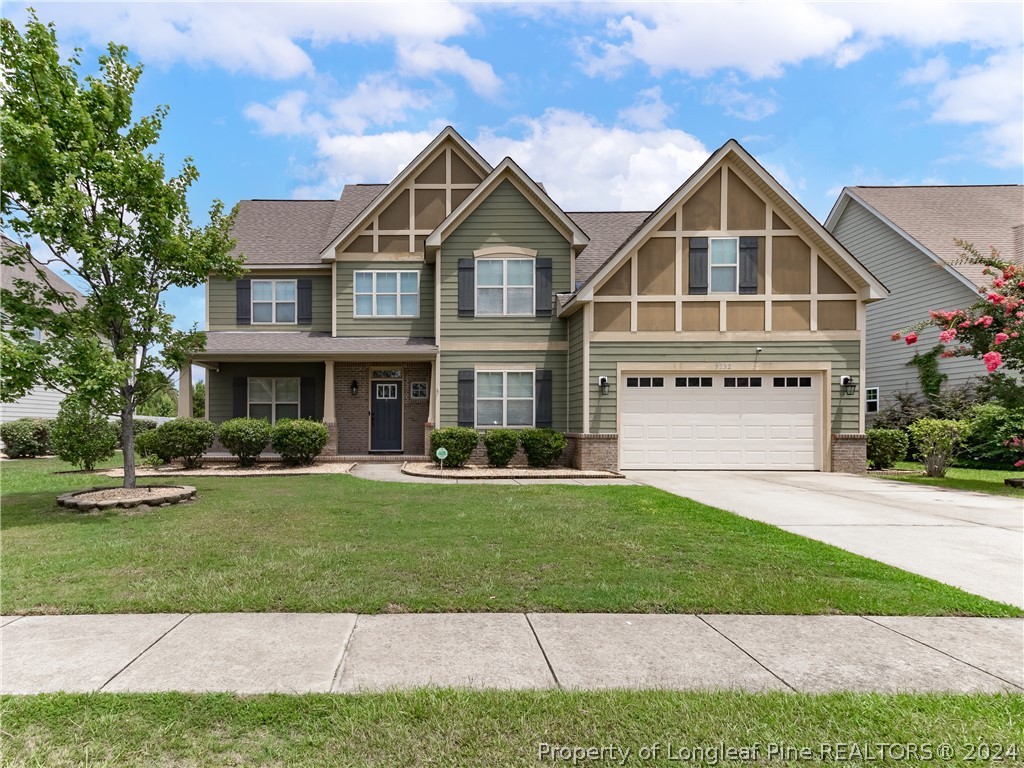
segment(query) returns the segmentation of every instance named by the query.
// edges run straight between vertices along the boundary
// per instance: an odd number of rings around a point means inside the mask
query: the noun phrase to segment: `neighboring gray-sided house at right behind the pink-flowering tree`
[[[967,307],[991,282],[977,264],[963,261],[955,240],[983,254],[994,246],[1005,259],[1024,263],[1024,186],[848,186],[825,228],[885,283],[891,294],[867,309],[868,414],[898,392],[920,392],[913,355],[939,343],[926,329],[916,344],[893,341],[896,331],[928,319],[929,310]],[[985,375],[973,357],[939,360],[945,386]]]

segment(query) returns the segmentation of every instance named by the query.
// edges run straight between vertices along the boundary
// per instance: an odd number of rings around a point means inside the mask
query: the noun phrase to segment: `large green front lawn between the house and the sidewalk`
[[[4,462],[5,613],[1022,611],[644,486],[196,477],[198,501],[65,512],[109,478]]]

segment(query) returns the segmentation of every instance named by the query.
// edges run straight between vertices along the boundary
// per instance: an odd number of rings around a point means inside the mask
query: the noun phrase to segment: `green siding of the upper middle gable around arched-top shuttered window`
[[[550,317],[459,316],[459,259],[492,246],[529,248],[538,258],[550,258],[553,293],[572,291],[568,241],[510,181],[503,181],[441,244],[441,338],[565,341],[565,321],[555,316],[554,303]]]

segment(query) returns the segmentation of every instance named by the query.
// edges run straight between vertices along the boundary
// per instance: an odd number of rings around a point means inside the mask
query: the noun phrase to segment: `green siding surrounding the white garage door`
[[[860,380],[860,342],[858,341],[763,341],[758,362],[831,364],[831,424],[836,434],[856,434],[860,431],[860,398],[858,387],[854,395],[843,395],[840,377]],[[591,342],[590,387],[597,391],[599,376],[607,376],[611,385],[603,397],[590,398],[590,431],[615,431],[615,400],[618,386],[616,367],[620,362],[728,362],[737,370],[755,370],[755,345],[751,342]]]

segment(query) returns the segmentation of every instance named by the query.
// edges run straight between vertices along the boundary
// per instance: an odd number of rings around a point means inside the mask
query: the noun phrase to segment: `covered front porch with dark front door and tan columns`
[[[191,365],[206,369],[206,418],[302,418],[330,432],[322,459],[422,459],[436,413],[432,339],[337,338],[319,334],[211,333]],[[294,351],[282,347],[296,347]],[[322,354],[306,354],[315,346]],[[255,347],[255,348],[253,348]],[[256,348],[271,347],[262,354]],[[312,351],[312,350],[310,350]],[[179,416],[191,413],[191,366],[181,371]],[[229,461],[215,443],[208,458]],[[274,458],[270,453],[266,459]]]

